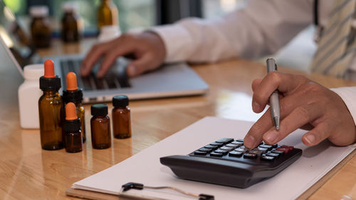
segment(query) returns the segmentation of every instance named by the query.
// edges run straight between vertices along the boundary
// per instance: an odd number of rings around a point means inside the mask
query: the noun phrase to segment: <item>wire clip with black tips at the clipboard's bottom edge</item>
[[[140,194],[127,194],[126,191],[129,191],[130,189],[137,189],[137,190],[171,189],[171,190],[179,192],[180,194],[184,194],[186,196],[196,197],[199,200],[214,200],[214,196],[211,196],[209,194],[193,194],[193,193],[189,193],[187,191],[183,191],[182,189],[177,189],[172,186],[144,186],[143,184],[137,184],[137,183],[132,183],[132,182],[122,185],[121,190],[119,192],[119,196],[125,197],[125,198],[131,198],[131,199],[142,199],[142,200],[168,200],[168,199],[162,199],[159,197],[144,196],[144,195],[140,195]]]

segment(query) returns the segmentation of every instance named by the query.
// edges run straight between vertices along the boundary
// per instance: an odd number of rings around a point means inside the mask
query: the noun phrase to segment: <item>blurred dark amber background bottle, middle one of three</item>
[[[65,42],[76,42],[80,39],[78,16],[75,4],[63,4],[64,14],[62,18],[62,40]]]

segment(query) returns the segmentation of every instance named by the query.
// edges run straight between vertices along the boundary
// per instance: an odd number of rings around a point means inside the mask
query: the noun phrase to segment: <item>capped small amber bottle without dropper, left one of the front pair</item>
[[[111,147],[110,118],[108,105],[95,104],[90,107],[91,142],[93,149],[107,149]]]

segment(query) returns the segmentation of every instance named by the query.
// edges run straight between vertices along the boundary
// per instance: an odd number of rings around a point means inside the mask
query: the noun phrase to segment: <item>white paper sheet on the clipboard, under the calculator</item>
[[[76,182],[72,187],[118,194],[122,184],[137,182],[147,186],[174,186],[196,194],[211,194],[217,200],[295,199],[354,149],[335,147],[328,141],[315,147],[307,147],[301,142],[305,131],[296,130],[279,144],[303,149],[303,156],[276,177],[247,189],[177,179],[168,167],[159,162],[159,157],[189,154],[222,137],[244,138],[251,125],[253,122],[205,117],[129,159]],[[140,194],[152,193],[144,190]],[[166,195],[164,192],[157,194],[161,198],[183,199],[181,195]]]

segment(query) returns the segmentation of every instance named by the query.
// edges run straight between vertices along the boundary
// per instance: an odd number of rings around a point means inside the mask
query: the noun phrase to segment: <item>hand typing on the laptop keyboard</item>
[[[103,57],[97,73],[98,78],[101,78],[117,57],[130,55],[135,60],[127,65],[126,71],[127,75],[135,76],[157,68],[163,63],[165,54],[164,43],[156,33],[122,34],[114,41],[94,45],[83,60],[80,73],[83,76],[89,75],[93,65]]]

